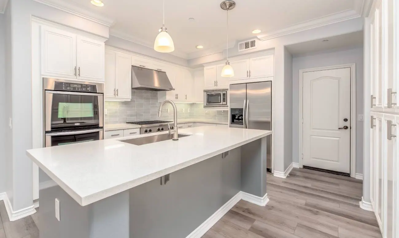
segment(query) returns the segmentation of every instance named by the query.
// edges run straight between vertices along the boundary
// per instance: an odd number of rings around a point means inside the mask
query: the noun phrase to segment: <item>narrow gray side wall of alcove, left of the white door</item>
[[[292,92],[292,55],[284,47],[284,171],[292,163],[292,93],[291,92]]]

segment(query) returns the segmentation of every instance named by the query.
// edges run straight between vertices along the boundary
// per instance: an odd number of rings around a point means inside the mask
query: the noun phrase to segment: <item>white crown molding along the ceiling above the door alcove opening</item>
[[[334,14],[322,16],[320,18],[315,18],[315,19],[308,20],[305,22],[300,22],[298,24],[288,26],[286,28],[283,28],[283,29],[275,31],[275,32],[260,34],[257,37],[259,38],[259,40],[265,41],[265,40],[270,40],[273,38],[293,34],[296,32],[302,32],[305,30],[310,30],[310,29],[321,27],[321,26],[326,26],[326,25],[330,25],[330,24],[334,24],[334,23],[338,23],[338,22],[343,22],[346,20],[351,20],[351,19],[359,18],[359,17],[360,17],[360,14],[358,12],[356,12],[355,10],[345,10],[342,12],[337,12]]]

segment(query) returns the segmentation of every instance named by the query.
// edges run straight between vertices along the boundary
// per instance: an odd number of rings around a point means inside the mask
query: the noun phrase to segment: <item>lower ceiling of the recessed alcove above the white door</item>
[[[328,40],[328,42],[323,42],[323,40]],[[363,31],[293,44],[286,46],[286,49],[292,55],[301,55],[309,53],[311,54],[312,52],[320,50],[361,46],[363,46]]]

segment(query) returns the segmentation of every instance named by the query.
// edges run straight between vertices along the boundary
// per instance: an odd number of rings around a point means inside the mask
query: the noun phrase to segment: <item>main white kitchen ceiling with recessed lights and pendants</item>
[[[115,20],[111,34],[152,46],[162,26],[162,0],[103,0],[96,7],[90,0],[64,0]],[[176,54],[192,58],[202,52],[220,52],[226,48],[226,11],[221,0],[165,0],[165,25],[174,40]],[[288,26],[350,11],[360,16],[365,0],[236,0],[229,12],[231,44],[262,33],[279,31]],[[188,18],[195,18],[190,22]],[[202,50],[196,49],[202,45]]]

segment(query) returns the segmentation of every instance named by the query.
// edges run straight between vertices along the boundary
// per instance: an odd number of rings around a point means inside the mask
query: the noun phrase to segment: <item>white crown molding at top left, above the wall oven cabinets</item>
[[[56,8],[63,12],[67,12],[69,14],[79,16],[80,18],[96,22],[98,24],[110,27],[114,24],[115,20],[107,18],[103,15],[91,12],[89,10],[85,10],[77,6],[76,4],[72,4],[69,1],[63,0],[34,0],[35,2],[39,2],[41,4],[50,6],[52,8]]]

